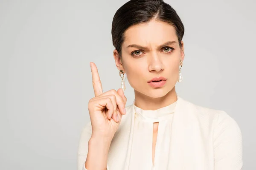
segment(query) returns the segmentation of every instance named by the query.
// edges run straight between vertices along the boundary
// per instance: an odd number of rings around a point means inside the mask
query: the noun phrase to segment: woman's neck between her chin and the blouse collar
[[[135,94],[135,103],[139,108],[143,110],[157,110],[159,108],[166,107],[171,105],[172,103],[177,101],[177,94],[175,91],[175,87],[169,91],[165,96],[154,98],[150,96],[146,96],[138,91],[134,90]]]

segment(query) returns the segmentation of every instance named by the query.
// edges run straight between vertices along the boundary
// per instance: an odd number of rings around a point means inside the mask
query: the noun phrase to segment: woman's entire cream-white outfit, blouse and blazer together
[[[134,99],[135,101],[135,99]],[[159,122],[152,162],[153,124]],[[92,128],[79,140],[78,170],[84,162]],[[111,141],[107,170],[241,170],[242,138],[236,121],[225,111],[177,101],[157,110],[126,106]]]

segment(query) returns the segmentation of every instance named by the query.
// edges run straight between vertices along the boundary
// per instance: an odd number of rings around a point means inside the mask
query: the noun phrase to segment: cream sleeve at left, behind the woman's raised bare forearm
[[[91,126],[91,122],[88,122],[83,128],[80,139],[79,139],[79,147],[78,147],[78,154],[77,154],[78,170],[87,170],[85,168],[84,163],[87,158],[88,142],[91,136],[92,136],[92,126]],[[107,170],[109,170],[108,164],[107,164]]]

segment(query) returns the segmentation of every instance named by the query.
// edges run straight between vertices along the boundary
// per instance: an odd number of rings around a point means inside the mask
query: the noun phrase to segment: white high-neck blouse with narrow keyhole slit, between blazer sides
[[[135,119],[131,159],[131,170],[166,170],[171,139],[171,125],[176,102],[157,110],[143,110],[134,105]],[[153,124],[159,122],[152,162]]]

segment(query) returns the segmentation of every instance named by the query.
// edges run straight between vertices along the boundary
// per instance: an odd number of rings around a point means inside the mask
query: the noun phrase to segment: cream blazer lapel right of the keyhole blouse
[[[196,105],[178,96],[172,120],[168,169],[210,170]]]

